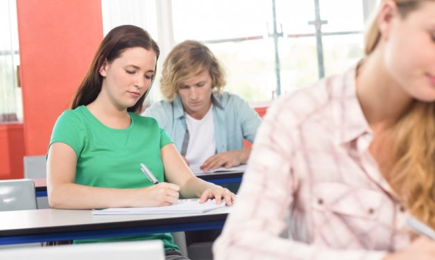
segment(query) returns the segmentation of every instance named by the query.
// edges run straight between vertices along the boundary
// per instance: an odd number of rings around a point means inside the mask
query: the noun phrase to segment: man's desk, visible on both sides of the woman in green
[[[196,174],[198,178],[206,180],[214,184],[224,184],[224,183],[241,183],[241,177],[244,172],[242,171],[219,171],[207,174]],[[36,196],[46,197],[46,178],[34,178]]]

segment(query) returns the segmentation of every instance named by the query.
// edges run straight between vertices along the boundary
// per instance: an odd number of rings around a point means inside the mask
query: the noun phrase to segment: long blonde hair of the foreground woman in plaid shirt
[[[395,2],[400,15],[406,17],[423,1],[429,0]],[[380,39],[375,17],[366,31],[366,55],[375,50]],[[435,228],[435,103],[414,101],[407,113],[395,123],[391,137],[391,187],[410,214]]]

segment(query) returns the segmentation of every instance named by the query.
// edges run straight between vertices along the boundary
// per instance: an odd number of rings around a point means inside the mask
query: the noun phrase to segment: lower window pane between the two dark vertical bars
[[[287,38],[280,44],[281,93],[318,80],[316,38]]]

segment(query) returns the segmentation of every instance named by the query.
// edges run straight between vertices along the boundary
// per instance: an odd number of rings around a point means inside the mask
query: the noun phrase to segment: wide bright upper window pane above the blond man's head
[[[173,0],[176,42],[266,35],[271,1]]]

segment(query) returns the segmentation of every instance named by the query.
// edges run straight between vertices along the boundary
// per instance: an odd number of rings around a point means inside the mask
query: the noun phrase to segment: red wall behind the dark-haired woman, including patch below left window
[[[101,0],[17,0],[24,118],[0,126],[0,178],[22,178],[22,156],[46,154],[103,38]]]

